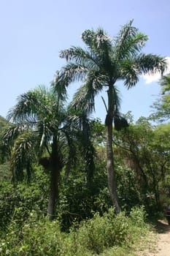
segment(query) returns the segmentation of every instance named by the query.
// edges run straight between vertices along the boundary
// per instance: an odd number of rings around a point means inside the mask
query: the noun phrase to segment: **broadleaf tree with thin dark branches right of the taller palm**
[[[147,211],[161,210],[161,196],[169,176],[170,124],[152,126],[141,117],[128,129],[115,132],[115,154],[134,172],[139,195]],[[163,195],[166,197],[166,193]]]

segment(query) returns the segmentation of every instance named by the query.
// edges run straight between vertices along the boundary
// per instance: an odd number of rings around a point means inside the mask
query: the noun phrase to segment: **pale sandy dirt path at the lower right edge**
[[[155,227],[155,241],[147,246],[139,256],[170,256],[170,226],[167,222],[158,221]]]

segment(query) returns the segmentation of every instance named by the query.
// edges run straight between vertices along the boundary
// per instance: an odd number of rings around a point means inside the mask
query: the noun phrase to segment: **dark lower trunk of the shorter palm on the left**
[[[53,166],[50,170],[50,195],[48,200],[47,214],[49,219],[53,220],[55,212],[55,203],[58,200],[58,179],[60,171],[58,167]]]

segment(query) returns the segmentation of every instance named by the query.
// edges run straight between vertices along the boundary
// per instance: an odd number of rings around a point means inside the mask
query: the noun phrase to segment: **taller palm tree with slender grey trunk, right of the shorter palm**
[[[118,80],[130,89],[135,86],[139,76],[147,72],[161,72],[166,68],[166,60],[161,56],[141,53],[148,37],[132,26],[133,20],[120,29],[117,37],[112,39],[103,29],[85,30],[82,41],[85,49],[72,47],[61,51],[60,57],[68,61],[61,69],[61,80],[66,86],[74,81],[83,80],[83,84],[74,96],[72,105],[88,113],[95,110],[95,97],[107,89],[107,110],[105,124],[107,127],[107,173],[109,192],[115,211],[120,211],[117,199],[114,159],[112,150],[112,122],[115,128],[127,126],[120,117],[120,97],[116,86]]]

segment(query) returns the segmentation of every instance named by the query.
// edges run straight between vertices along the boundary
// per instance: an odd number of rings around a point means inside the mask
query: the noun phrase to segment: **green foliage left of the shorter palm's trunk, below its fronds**
[[[47,176],[40,168],[34,168],[31,184],[25,180],[15,187],[9,181],[0,184],[0,229],[8,229],[10,222],[21,226],[26,221],[31,211],[36,211],[39,216],[47,213]]]

